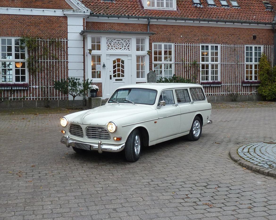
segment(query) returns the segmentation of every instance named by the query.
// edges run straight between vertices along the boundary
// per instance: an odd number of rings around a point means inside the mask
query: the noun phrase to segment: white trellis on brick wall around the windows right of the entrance
[[[175,43],[175,74],[200,83],[200,72],[195,64],[200,64],[200,44]],[[245,80],[245,45],[220,44],[221,86],[204,87],[206,95],[256,95],[258,86],[243,86]],[[272,65],[273,45],[263,45],[263,52]],[[192,65],[194,64],[194,65]]]

